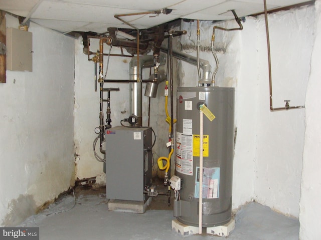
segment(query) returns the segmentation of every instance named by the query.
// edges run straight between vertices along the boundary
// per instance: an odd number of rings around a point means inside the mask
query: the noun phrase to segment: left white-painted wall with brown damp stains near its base
[[[7,27],[18,27],[7,14]],[[33,72],[0,84],[0,225],[14,226],[74,183],[74,39],[31,23]]]

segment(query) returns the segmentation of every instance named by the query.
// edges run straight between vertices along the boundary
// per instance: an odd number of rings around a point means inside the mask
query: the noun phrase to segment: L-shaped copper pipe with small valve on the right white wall
[[[269,37],[269,26],[267,21],[267,8],[266,8],[266,0],[264,2],[264,17],[265,17],[265,29],[266,29],[266,41],[267,41],[267,58],[268,58],[268,71],[269,71],[269,87],[270,87],[270,110],[277,111],[277,110],[288,110],[288,109],[296,109],[296,108],[304,108],[305,106],[290,106],[289,100],[285,100],[284,107],[273,107],[273,100],[272,100],[272,70],[271,70],[271,49],[270,49],[270,37]]]

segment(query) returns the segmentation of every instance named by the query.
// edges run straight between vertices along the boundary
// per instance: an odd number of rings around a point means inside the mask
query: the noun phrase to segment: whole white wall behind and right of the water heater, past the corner
[[[313,44],[314,8],[301,7],[269,14],[273,104],[304,105]],[[217,23],[236,27],[235,21]],[[242,31],[216,31],[215,48],[220,68],[217,86],[236,87],[235,127],[237,137],[233,169],[233,208],[246,201],[268,205],[285,214],[298,216],[301,163],[304,140],[304,109],[269,110],[267,46],[264,16],[246,17]],[[190,23],[183,23],[190,29]],[[200,57],[215,61],[208,51],[213,24],[201,22]],[[196,42],[182,37],[183,49]],[[191,54],[196,54],[195,51]],[[286,60],[284,60],[286,59]],[[192,77],[191,77],[192,76]],[[182,85],[196,85],[197,70],[182,63]]]

